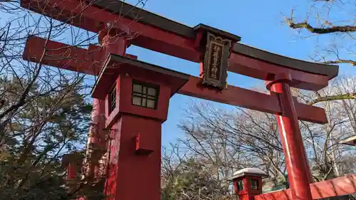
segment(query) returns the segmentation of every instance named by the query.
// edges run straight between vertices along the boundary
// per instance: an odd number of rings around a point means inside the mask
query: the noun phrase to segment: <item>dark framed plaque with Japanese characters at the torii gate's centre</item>
[[[231,40],[207,33],[203,84],[224,89],[227,78]]]

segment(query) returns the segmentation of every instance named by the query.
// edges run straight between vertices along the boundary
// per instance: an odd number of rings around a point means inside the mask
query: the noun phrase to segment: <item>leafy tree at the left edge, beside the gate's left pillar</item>
[[[56,80],[56,89],[34,83],[26,103],[4,116],[0,132],[0,199],[73,199],[68,194],[61,157],[83,151],[91,105],[83,79]],[[0,113],[18,102],[26,79],[0,78]],[[85,191],[80,191],[85,194]]]

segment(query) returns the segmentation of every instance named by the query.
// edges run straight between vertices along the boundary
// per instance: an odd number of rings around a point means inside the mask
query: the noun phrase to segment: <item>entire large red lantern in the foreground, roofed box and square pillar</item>
[[[105,194],[112,199],[160,199],[161,132],[169,98],[189,75],[110,54],[92,91],[105,100],[110,130]],[[137,182],[139,181],[139,182]],[[140,192],[137,192],[137,184]]]

